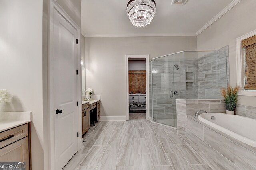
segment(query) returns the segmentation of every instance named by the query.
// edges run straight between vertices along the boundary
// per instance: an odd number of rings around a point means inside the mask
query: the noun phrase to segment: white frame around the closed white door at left
[[[44,165],[48,167],[44,167],[44,169],[49,169],[49,170],[54,170],[55,169],[55,131],[54,131],[54,58],[53,58],[53,53],[54,53],[54,10],[57,10],[77,31],[77,39],[78,39],[78,44],[77,44],[77,70],[78,70],[78,75],[76,75],[76,96],[77,96],[77,101],[78,101],[78,107],[76,110],[76,121],[81,122],[77,123],[77,132],[79,134],[78,137],[78,143],[77,143],[77,150],[82,148],[82,117],[79,116],[82,112],[82,106],[81,106],[81,47],[80,47],[80,36],[81,36],[81,30],[80,27],[68,16],[68,14],[65,12],[65,10],[62,9],[62,7],[55,1],[55,0],[50,0],[49,1],[49,6],[48,6],[48,61],[47,61],[47,96],[48,96],[48,102],[47,102],[47,107],[48,107],[48,114],[47,114],[47,119],[46,122],[44,123],[44,128],[45,130],[45,135],[44,137],[48,137],[45,141],[48,141],[48,145],[46,144],[44,148],[44,152],[46,151],[47,155],[44,156],[44,158],[48,159],[47,163]],[[75,75],[75,73],[74,73]]]

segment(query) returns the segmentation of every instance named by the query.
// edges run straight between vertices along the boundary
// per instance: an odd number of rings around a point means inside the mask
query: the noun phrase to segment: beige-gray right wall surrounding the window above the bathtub
[[[236,86],[236,38],[256,29],[255,0],[242,0],[197,36],[198,50],[229,46],[230,84]],[[256,97],[240,96],[238,104],[256,106]]]

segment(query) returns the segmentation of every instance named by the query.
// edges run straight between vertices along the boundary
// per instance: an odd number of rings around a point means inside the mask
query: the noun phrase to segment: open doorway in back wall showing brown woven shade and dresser
[[[147,119],[147,61],[148,55],[126,55],[127,57],[127,120]]]

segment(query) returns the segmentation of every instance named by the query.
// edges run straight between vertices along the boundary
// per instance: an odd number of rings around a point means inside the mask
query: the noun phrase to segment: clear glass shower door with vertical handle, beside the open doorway
[[[173,55],[153,59],[151,69],[153,119],[158,123],[176,127]]]

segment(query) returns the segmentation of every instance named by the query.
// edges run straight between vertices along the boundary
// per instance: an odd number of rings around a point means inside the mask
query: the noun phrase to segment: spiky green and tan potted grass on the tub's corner
[[[224,97],[224,101],[226,102],[227,114],[234,115],[234,110],[236,109],[236,102],[237,102],[237,96],[238,96],[239,90],[240,90],[239,86],[232,88],[230,85],[228,85],[227,89],[222,88],[221,95]]]

